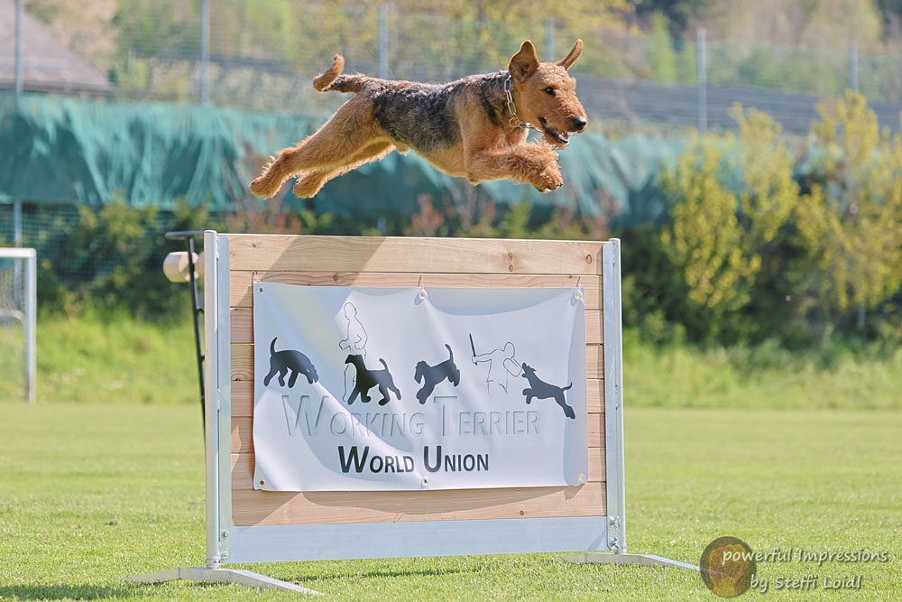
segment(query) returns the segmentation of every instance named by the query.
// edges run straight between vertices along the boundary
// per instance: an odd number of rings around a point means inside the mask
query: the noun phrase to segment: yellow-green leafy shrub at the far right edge
[[[902,135],[880,132],[861,94],[817,111],[815,181],[796,208],[805,249],[796,274],[829,331],[902,285]]]

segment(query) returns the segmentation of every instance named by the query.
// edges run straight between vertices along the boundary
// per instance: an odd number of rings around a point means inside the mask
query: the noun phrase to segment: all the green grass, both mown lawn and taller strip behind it
[[[190,324],[41,316],[39,400],[0,349],[0,598],[290,596],[128,575],[204,559]],[[902,350],[702,350],[624,342],[630,551],[697,563],[732,535],[756,551],[888,551],[887,563],[762,563],[759,576],[858,575],[902,597]],[[556,555],[250,566],[347,599],[715,599],[695,573]],[[749,596],[759,594],[748,593]]]

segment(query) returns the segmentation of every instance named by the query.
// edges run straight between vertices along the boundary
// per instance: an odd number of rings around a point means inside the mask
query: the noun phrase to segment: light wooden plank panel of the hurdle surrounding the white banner
[[[603,243],[229,235],[235,525],[599,516],[604,484]],[[251,285],[584,289],[588,482],[572,487],[274,493],[253,490]]]

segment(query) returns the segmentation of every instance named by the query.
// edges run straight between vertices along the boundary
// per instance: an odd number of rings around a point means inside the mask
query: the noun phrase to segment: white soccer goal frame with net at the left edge
[[[35,398],[37,255],[0,248],[0,399]]]

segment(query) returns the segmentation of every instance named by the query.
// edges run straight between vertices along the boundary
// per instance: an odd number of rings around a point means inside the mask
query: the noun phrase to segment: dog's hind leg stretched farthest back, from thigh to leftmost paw
[[[364,96],[351,98],[316,134],[281,150],[278,158],[251,182],[251,191],[268,199],[290,177],[304,171],[335,170],[352,162],[355,153],[385,135],[376,124],[369,100]]]

